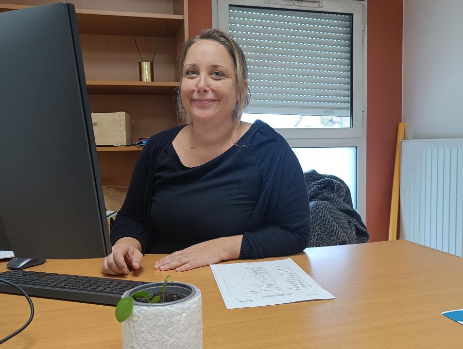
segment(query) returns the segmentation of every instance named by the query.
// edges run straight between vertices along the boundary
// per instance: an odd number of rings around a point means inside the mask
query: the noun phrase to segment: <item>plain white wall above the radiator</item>
[[[463,0],[403,4],[405,138],[463,138]]]

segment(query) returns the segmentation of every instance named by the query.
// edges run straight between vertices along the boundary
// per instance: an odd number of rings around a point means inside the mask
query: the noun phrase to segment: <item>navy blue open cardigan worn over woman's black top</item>
[[[122,237],[133,237],[140,242],[143,253],[151,253],[155,243],[151,204],[156,158],[183,127],[160,132],[144,146],[124,204],[111,228],[113,244]],[[268,141],[259,148],[254,147],[262,187],[256,209],[243,231],[240,259],[301,252],[310,240],[310,211],[299,161],[286,140],[266,123],[256,121],[248,132],[263,133]],[[150,231],[153,233],[149,234]],[[166,251],[169,252],[173,251]]]

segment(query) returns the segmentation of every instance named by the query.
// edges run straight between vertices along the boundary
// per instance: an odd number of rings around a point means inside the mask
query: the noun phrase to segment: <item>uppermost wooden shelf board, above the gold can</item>
[[[0,3],[0,12],[31,6]],[[175,37],[184,22],[183,15],[76,9],[77,26],[82,34]]]

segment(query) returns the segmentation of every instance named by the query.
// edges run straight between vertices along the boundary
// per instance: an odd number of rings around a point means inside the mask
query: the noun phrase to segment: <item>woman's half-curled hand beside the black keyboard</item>
[[[113,246],[113,253],[104,257],[101,269],[104,274],[128,274],[129,267],[138,269],[143,261],[141,244],[134,238],[121,238]]]

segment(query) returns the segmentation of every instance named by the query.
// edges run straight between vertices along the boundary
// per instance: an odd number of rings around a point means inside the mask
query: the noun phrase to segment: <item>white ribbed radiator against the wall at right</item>
[[[403,140],[400,238],[463,256],[463,139]]]

